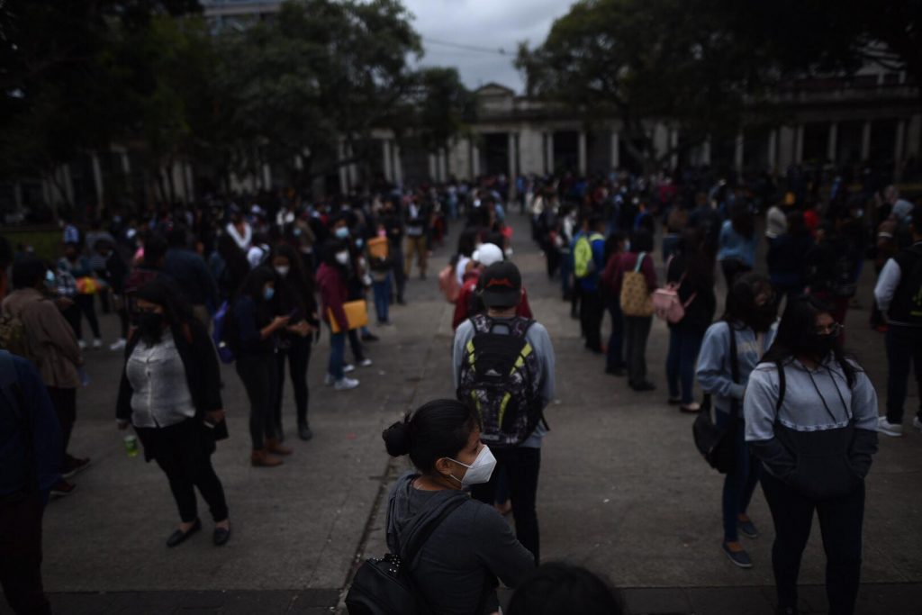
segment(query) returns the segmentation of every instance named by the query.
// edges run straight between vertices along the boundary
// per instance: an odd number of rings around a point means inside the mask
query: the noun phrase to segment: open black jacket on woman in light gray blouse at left
[[[201,420],[207,412],[224,408],[221,401],[221,373],[218,356],[205,326],[198,321],[190,321],[172,327],[173,341],[179,351],[185,368],[185,379],[189,384],[189,393],[195,405],[195,418]],[[135,350],[140,336],[135,332],[128,339],[124,350],[125,366]],[[115,417],[119,420],[131,420],[131,396],[134,390],[128,382],[128,376],[122,368],[122,383],[119,385],[118,402]]]

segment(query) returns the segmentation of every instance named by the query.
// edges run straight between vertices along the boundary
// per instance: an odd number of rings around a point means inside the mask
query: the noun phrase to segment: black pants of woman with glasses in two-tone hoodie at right
[[[864,483],[832,500],[805,497],[769,472],[762,472],[762,491],[772,511],[772,568],[778,607],[797,607],[798,574],[810,538],[813,511],[820,519],[826,551],[826,597],[830,615],[851,615],[861,581],[861,526],[864,522]]]

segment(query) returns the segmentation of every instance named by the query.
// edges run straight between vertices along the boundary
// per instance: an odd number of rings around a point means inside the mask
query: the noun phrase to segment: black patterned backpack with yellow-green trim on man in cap
[[[522,444],[543,420],[538,357],[526,339],[535,321],[515,316],[498,322],[479,314],[470,322],[474,337],[464,349],[457,398],[477,410],[484,444]],[[508,326],[509,333],[493,333],[496,325]]]

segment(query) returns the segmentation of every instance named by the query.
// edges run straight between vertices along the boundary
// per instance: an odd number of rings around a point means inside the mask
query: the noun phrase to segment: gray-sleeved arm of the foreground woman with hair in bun
[[[470,528],[475,555],[507,587],[520,585],[535,568],[535,556],[515,539],[512,527],[491,506],[478,506]]]

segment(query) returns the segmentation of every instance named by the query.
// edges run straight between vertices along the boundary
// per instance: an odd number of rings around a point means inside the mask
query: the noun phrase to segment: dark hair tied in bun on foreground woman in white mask
[[[388,455],[409,455],[420,472],[429,474],[439,459],[455,458],[479,427],[477,412],[467,405],[455,399],[434,399],[396,421],[381,437]]]

